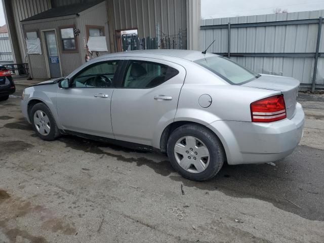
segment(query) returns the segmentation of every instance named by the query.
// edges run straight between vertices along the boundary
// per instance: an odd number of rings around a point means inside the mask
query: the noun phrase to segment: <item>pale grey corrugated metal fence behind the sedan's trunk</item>
[[[201,25],[256,23],[280,20],[314,19],[324,16],[324,10],[286,14],[269,14],[201,20]],[[241,27],[231,29],[231,53],[314,53],[318,24]],[[213,53],[227,52],[227,29],[201,29],[200,50]],[[324,25],[322,25],[319,52],[324,52]],[[237,63],[258,73],[291,76],[301,83],[311,84],[314,58],[312,57],[231,57]],[[318,59],[316,84],[324,84],[324,57]]]

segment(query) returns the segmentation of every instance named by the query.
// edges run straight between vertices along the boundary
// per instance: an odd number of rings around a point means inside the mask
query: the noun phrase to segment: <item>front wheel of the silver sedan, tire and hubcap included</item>
[[[35,104],[29,117],[37,136],[43,140],[53,141],[60,135],[54,116],[44,103]]]

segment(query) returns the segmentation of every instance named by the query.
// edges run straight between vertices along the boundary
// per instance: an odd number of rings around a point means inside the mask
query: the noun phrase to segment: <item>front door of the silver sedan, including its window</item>
[[[57,112],[65,130],[114,138],[110,119],[111,97],[121,60],[98,61],[69,80],[57,92]]]

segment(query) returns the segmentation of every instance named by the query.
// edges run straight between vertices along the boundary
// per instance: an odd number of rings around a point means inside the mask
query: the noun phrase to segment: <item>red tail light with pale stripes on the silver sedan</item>
[[[283,95],[271,96],[251,104],[251,117],[255,123],[271,123],[287,117]]]

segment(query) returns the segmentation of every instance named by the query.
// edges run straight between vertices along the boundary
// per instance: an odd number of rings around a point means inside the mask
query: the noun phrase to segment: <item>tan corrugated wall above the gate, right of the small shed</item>
[[[156,23],[160,23],[160,34],[176,35],[179,29],[187,28],[186,0],[107,0],[113,8],[112,31],[138,28],[138,36],[155,37]]]

